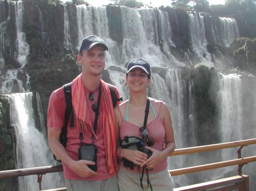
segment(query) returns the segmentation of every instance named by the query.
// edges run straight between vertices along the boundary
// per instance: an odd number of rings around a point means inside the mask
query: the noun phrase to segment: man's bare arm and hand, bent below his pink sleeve
[[[86,160],[75,161],[69,156],[69,154],[66,152],[66,149],[59,141],[61,130],[48,127],[47,131],[48,145],[59,160],[64,162],[71,170],[83,178],[97,174],[97,172],[94,172],[87,166],[88,164],[94,165],[94,162]]]

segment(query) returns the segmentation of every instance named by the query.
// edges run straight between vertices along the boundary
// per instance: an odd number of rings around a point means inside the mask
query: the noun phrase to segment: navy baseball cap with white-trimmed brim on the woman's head
[[[129,73],[133,68],[141,68],[146,72],[148,78],[150,78],[150,65],[143,58],[134,58],[130,62],[128,62],[126,74]]]

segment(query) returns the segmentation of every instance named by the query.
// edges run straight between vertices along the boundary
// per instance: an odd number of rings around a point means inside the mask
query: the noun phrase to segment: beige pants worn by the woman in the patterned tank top
[[[140,174],[133,173],[121,166],[119,166],[119,170],[117,172],[117,181],[119,191],[143,190],[141,188]],[[149,181],[153,191],[173,190],[173,180],[167,168],[160,172],[149,174]],[[143,175],[142,185],[144,190],[150,190],[150,187],[147,188],[148,183],[146,174]]]

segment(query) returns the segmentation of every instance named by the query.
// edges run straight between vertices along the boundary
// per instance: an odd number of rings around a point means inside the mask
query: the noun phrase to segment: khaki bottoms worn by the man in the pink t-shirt
[[[65,179],[67,191],[118,191],[117,177],[106,180],[70,180]]]

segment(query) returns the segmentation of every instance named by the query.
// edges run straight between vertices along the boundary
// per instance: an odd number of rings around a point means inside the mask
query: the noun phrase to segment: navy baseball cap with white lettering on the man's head
[[[102,38],[96,35],[91,35],[83,39],[79,49],[79,54],[82,50],[90,50],[95,45],[102,45],[105,50],[108,50],[106,42]]]

